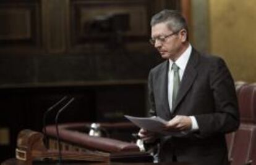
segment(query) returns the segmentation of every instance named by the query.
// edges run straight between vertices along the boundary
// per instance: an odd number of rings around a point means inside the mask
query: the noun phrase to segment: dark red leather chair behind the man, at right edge
[[[236,83],[241,125],[226,135],[231,165],[256,165],[256,84]]]

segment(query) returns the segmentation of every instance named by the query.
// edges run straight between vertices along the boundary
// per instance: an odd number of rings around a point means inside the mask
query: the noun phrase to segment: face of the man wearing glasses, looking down
[[[158,23],[151,27],[151,38],[155,40],[155,48],[164,59],[176,60],[184,50],[186,30],[171,31],[166,23]]]

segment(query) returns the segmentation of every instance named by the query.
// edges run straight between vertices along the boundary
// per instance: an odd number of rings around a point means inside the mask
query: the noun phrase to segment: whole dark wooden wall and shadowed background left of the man
[[[148,44],[150,17],[180,6],[168,0],[0,1],[0,162],[14,157],[20,130],[41,131],[43,113],[64,95],[75,101],[60,123],[145,116],[148,71],[161,62]]]

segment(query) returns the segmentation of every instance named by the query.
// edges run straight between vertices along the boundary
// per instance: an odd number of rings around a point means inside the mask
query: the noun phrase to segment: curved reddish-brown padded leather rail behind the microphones
[[[137,129],[132,123],[100,123],[101,127],[111,132],[129,132]],[[116,139],[114,137],[95,137],[88,135],[90,123],[67,123],[59,125],[61,150],[79,151],[83,153],[98,153],[110,157],[110,161],[122,162],[153,162],[153,157],[147,152],[141,152],[134,142]],[[50,137],[49,148],[57,149],[57,132],[55,126],[47,126],[46,134]],[[137,130],[136,130],[137,132]],[[132,135],[129,132],[129,136]]]

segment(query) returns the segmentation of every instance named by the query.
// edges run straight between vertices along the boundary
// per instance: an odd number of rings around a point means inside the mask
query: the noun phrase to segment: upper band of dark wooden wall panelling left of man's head
[[[164,8],[177,9],[179,1],[2,0],[0,54],[109,54],[124,46],[148,54],[150,18]],[[127,30],[106,33],[90,24],[116,14],[126,16],[115,23]]]

